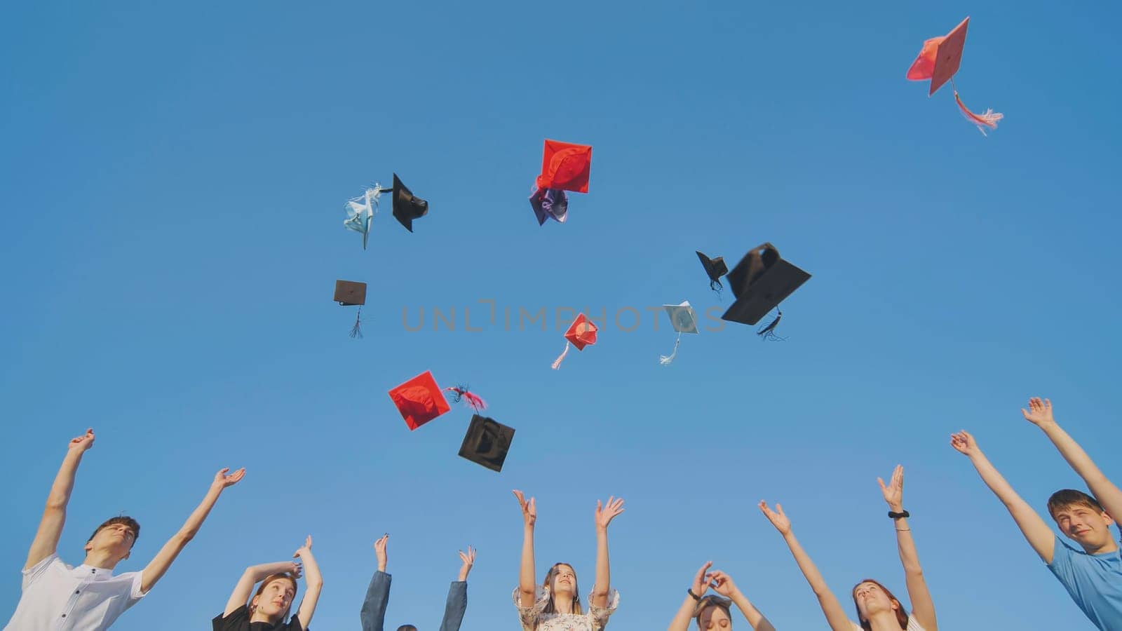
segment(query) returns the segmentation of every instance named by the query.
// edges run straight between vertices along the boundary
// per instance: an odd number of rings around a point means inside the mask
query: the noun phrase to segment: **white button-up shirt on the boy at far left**
[[[24,570],[24,593],[4,631],[104,631],[144,597],[140,575],[72,567],[50,555]]]

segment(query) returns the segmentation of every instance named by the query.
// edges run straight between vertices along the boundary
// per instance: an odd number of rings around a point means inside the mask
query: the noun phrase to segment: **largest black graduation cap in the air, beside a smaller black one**
[[[720,319],[755,324],[808,280],[810,274],[780,258],[775,246],[757,246],[728,273],[736,301]]]

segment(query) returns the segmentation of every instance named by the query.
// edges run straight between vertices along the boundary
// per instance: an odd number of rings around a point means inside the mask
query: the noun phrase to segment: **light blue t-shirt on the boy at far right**
[[[1122,550],[1088,555],[1056,536],[1048,569],[1095,627],[1122,629]]]

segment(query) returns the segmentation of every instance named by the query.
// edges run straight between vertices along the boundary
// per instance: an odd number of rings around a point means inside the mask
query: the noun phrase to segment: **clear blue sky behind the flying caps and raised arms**
[[[949,89],[904,72],[971,16]],[[465,631],[516,628],[521,521],[539,575],[592,584],[597,499],[611,527],[611,628],[669,623],[707,559],[780,629],[822,628],[755,507],[781,501],[831,587],[904,592],[876,486],[905,505],[946,629],[1092,629],[1031,552],[953,430],[1034,505],[1082,487],[1018,409],[1057,417],[1115,479],[1122,263],[1116,6],[861,9],[690,2],[8,3],[0,17],[0,401],[11,481],[0,611],[67,439],[92,426],[61,550],[121,511],[139,569],[214,470],[248,469],[117,629],[192,629],[241,570],[312,533],[313,627],[356,629],[374,540],[390,532],[387,624],[435,629],[457,549],[479,557]],[[590,192],[537,227],[543,138],[594,145]],[[398,173],[370,247],[343,201]],[[644,308],[719,303],[695,249],[763,243],[813,277],[782,344],[725,327],[682,340]],[[331,302],[369,283],[366,338]],[[484,318],[546,308],[545,331]],[[456,330],[406,331],[420,308]],[[563,348],[557,308],[601,310]],[[623,331],[610,320],[641,312]],[[463,330],[463,310],[472,327]],[[629,316],[622,316],[624,326]],[[386,391],[425,369],[517,429],[502,474],[457,457],[470,411],[407,431]],[[747,628],[736,619],[737,628]]]

